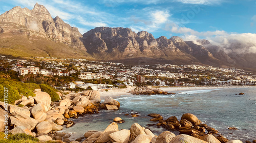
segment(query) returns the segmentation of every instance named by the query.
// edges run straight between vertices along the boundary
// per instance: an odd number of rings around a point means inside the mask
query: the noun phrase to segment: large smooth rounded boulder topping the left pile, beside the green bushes
[[[36,103],[42,103],[43,105],[46,105],[48,110],[50,109],[51,105],[51,96],[46,92],[36,92],[34,97]],[[47,110],[47,109],[46,109]],[[47,111],[48,111],[47,110]]]

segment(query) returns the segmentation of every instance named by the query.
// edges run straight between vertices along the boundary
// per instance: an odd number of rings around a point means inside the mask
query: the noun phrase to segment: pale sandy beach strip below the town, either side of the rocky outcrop
[[[126,88],[126,89],[112,89],[106,92],[105,90],[100,91],[101,99],[105,99],[107,96],[117,97],[121,95],[132,95],[129,91],[135,89],[136,87]],[[256,87],[169,87],[169,88],[159,88],[164,92],[173,92],[179,93],[181,91],[188,91],[188,90],[211,90],[211,89],[237,89],[237,88],[256,88]]]

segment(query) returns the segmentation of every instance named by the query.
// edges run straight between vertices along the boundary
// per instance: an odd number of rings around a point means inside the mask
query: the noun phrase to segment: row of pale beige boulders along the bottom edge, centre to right
[[[88,131],[84,133],[82,143],[219,143],[220,141],[213,135],[207,134],[204,138],[199,139],[190,135],[180,134],[175,135],[170,131],[164,131],[158,136],[152,133],[151,130],[141,127],[139,124],[134,123],[130,130],[118,129],[116,123],[111,123],[103,132],[101,131]],[[228,143],[242,143],[239,140],[231,140]]]

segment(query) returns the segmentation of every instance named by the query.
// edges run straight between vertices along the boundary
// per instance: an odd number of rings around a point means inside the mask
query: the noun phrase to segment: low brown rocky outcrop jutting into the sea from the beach
[[[164,92],[158,88],[143,88],[143,87],[137,87],[134,90],[130,91],[130,93],[135,95],[175,94],[175,93]]]

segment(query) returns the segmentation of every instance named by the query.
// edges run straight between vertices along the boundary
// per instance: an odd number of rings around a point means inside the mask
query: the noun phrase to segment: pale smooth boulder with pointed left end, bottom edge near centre
[[[118,143],[128,143],[130,138],[130,130],[120,130],[109,134],[109,137]]]

